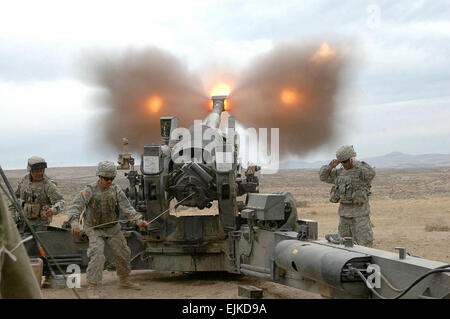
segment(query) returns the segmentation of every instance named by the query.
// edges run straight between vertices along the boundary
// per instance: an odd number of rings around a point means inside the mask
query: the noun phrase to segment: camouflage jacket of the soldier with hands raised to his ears
[[[338,168],[333,172],[331,162],[319,171],[320,180],[334,184],[330,201],[340,203],[339,216],[360,217],[370,214],[369,196],[375,170],[366,162],[355,160],[350,169]]]

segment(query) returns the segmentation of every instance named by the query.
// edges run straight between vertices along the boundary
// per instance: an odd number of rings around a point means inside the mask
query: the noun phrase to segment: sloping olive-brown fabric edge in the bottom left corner
[[[0,298],[42,298],[17,227],[0,195]]]

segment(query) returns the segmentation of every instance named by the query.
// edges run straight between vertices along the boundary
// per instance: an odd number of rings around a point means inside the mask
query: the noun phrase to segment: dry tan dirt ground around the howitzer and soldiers
[[[25,170],[10,170],[6,175],[13,187]],[[67,206],[75,194],[95,181],[95,167],[49,168],[60,188]],[[119,173],[116,182],[126,187],[127,180]],[[319,223],[319,237],[336,233],[337,204],[328,201],[330,184],[319,181],[318,170],[284,170],[276,175],[260,176],[260,192],[291,192],[297,201],[299,218]],[[371,220],[374,224],[374,247],[395,252],[403,246],[411,254],[450,263],[450,167],[414,169],[378,169],[372,184]],[[214,214],[213,206],[207,214]],[[178,209],[174,214],[193,214],[191,209]],[[205,212],[203,212],[205,213]],[[57,216],[60,225],[65,215]],[[231,299],[238,296],[239,285],[263,289],[264,298],[321,298],[317,294],[286,287],[263,279],[227,273],[181,273],[152,270],[133,271],[131,279],[139,282],[141,291],[116,287],[117,276],[105,271],[101,296],[103,298],[168,298],[168,299]],[[77,289],[84,298],[85,275]],[[70,289],[45,288],[45,298],[76,298]]]

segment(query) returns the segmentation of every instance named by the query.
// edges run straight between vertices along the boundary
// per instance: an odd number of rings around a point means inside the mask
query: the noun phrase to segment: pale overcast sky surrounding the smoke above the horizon
[[[281,41],[351,43],[336,139],[358,157],[450,153],[448,1],[1,1],[0,165],[95,165],[117,153],[94,143],[102,116],[83,80],[93,52],[156,46],[192,69],[241,67]],[[181,116],[181,115],[178,115]]]

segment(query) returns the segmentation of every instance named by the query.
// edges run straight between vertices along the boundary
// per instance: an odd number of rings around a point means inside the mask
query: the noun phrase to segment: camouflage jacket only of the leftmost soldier
[[[38,182],[32,182],[30,174],[25,175],[17,186],[16,197],[21,200],[22,206],[35,204],[38,207],[37,210],[49,206],[54,215],[60,213],[65,204],[63,196],[56,188],[56,183],[46,175]]]

